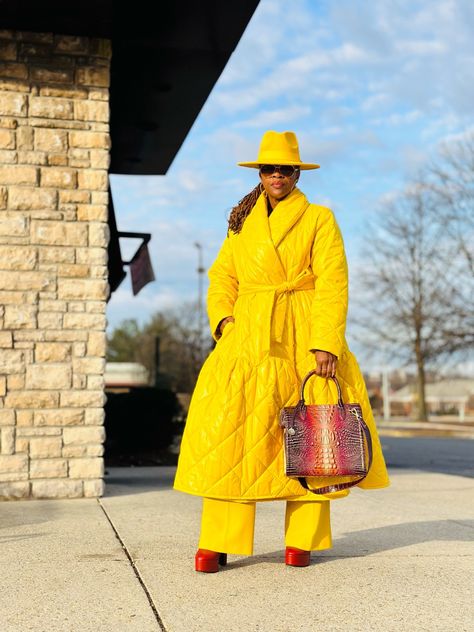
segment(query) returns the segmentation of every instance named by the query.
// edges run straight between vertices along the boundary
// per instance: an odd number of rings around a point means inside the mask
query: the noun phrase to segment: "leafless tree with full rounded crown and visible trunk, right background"
[[[420,420],[427,366],[474,344],[469,257],[454,246],[440,199],[432,183],[420,182],[383,205],[360,273],[364,342],[416,364]]]

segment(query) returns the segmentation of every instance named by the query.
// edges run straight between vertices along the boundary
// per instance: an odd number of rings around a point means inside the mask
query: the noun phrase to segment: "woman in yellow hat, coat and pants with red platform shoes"
[[[264,134],[260,183],[232,209],[209,270],[208,313],[216,347],[190,404],[174,487],[203,496],[195,568],[215,572],[227,553],[251,555],[255,503],[286,500],[285,561],[307,566],[331,547],[329,502],[348,490],[315,495],[284,474],[279,411],[306,401],[334,403],[337,372],[345,401],[359,402],[372,435],[373,462],[359,487],[389,484],[364,381],[344,337],[347,266],[332,212],[296,188],[300,160],[293,132]],[[311,488],[349,479],[308,479]]]

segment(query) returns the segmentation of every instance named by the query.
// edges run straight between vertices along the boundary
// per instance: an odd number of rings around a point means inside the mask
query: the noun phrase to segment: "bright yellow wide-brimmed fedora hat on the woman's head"
[[[300,169],[319,169],[319,165],[312,162],[301,162],[298,140],[294,132],[265,132],[260,143],[257,160],[251,162],[238,162],[240,167],[253,167],[258,169],[260,165],[293,165]]]

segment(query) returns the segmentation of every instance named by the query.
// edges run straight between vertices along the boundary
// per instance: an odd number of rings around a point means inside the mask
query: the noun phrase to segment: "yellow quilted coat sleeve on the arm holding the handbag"
[[[345,346],[348,271],[341,231],[331,210],[320,207],[311,267],[316,277],[310,350],[340,357]]]

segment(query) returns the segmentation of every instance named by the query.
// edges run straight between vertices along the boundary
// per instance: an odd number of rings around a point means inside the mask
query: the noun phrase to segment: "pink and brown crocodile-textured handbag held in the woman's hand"
[[[315,494],[327,494],[360,483],[372,464],[372,439],[362,419],[359,404],[345,404],[339,382],[337,404],[309,404],[304,387],[316,371],[310,371],[301,385],[300,400],[280,412],[284,429],[285,474],[298,478]],[[305,477],[357,476],[356,480],[309,489]]]

